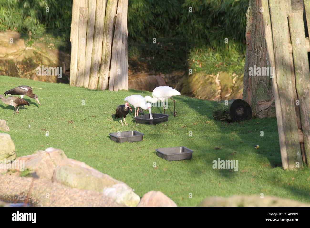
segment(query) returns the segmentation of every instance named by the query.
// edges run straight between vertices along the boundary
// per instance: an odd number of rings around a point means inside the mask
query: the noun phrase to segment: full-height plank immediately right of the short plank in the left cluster
[[[95,11],[96,0],[88,0],[88,18],[87,18],[87,41],[86,41],[86,54],[85,54],[85,71],[83,86],[88,88],[89,75],[91,72],[91,52],[93,51],[94,29],[95,29]]]

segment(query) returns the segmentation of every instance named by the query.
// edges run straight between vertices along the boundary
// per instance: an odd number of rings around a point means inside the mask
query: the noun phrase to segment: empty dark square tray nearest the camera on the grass
[[[159,148],[156,149],[158,157],[164,158],[167,161],[180,161],[185,159],[191,159],[193,150],[190,150],[184,146]]]

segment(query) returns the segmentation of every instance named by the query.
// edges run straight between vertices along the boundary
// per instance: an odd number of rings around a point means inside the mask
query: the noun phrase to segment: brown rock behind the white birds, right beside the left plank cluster
[[[153,91],[158,86],[166,86],[164,78],[160,75],[138,73],[128,76],[129,89]]]

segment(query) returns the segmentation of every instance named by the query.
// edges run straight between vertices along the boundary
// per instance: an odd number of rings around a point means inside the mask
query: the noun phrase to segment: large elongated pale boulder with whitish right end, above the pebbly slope
[[[125,183],[73,159],[62,160],[56,167],[52,181],[72,188],[102,192],[126,206],[135,207],[140,201],[140,197]]]

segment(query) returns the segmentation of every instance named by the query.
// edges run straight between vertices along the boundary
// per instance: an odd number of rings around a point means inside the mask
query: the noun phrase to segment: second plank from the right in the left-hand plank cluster
[[[113,20],[116,14],[117,0],[108,0],[106,15],[104,18],[102,58],[99,69],[99,84],[100,90],[105,90],[108,87],[108,77],[112,54],[113,42]]]

